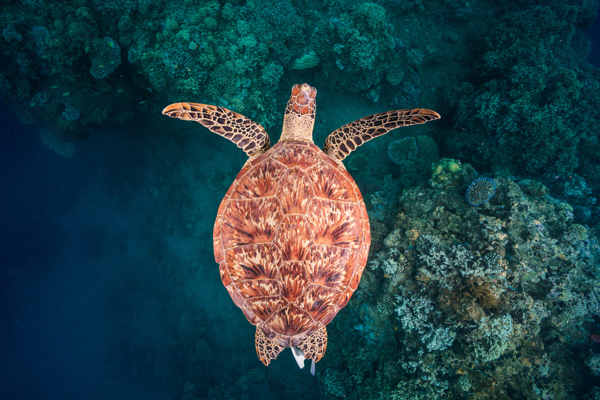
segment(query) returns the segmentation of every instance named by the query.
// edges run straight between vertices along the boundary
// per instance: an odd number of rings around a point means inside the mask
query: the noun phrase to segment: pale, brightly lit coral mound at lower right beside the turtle
[[[569,349],[585,345],[600,318],[596,237],[572,223],[569,204],[511,179],[494,177],[496,195],[476,209],[461,194],[468,164],[441,160],[431,171],[428,187],[400,195],[350,300],[355,311],[330,334],[346,348],[329,371],[371,343],[370,372],[346,398],[401,398],[415,392],[398,385],[415,381],[419,398],[575,398],[567,393],[584,377]]]

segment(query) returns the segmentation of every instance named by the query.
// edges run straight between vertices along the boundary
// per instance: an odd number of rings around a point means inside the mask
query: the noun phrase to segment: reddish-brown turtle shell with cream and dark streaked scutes
[[[371,240],[352,176],[301,142],[277,143],[244,166],[221,201],[213,237],[233,302],[283,347],[346,305]]]

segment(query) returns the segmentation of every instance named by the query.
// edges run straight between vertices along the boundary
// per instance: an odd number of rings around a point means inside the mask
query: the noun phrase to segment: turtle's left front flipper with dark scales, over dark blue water
[[[271,147],[271,140],[262,125],[223,107],[199,103],[173,103],[165,107],[164,115],[184,121],[196,121],[256,158]]]

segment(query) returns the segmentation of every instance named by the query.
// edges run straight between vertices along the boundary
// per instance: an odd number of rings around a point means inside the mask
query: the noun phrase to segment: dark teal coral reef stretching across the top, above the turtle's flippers
[[[400,109],[427,104],[456,115],[438,145],[517,175],[577,173],[598,198],[600,83],[580,31],[596,2],[125,3],[7,5],[5,100],[58,128],[63,110],[44,107],[38,94],[76,104],[85,118],[73,140],[85,139],[89,125],[181,100],[270,128],[290,82],[313,80]],[[490,23],[490,15],[499,17]]]

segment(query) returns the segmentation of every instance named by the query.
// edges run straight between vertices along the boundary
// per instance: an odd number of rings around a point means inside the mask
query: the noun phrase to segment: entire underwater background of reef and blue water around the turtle
[[[0,11],[2,398],[600,399],[597,1]],[[161,115],[217,104],[275,142],[300,82],[317,145],[371,113],[442,115],[344,161],[372,244],[315,377],[289,350],[262,365],[220,281],[244,153]]]

